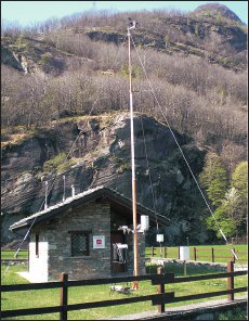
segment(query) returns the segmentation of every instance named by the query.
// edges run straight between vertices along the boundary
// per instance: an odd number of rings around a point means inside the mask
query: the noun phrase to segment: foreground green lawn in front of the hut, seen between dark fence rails
[[[22,266],[10,266],[8,272],[5,273],[2,284],[19,284],[28,283],[26,280],[16,274],[17,271],[24,271]],[[176,277],[183,274],[181,267],[175,268],[175,265],[168,265],[166,267],[167,272],[174,272]],[[2,273],[5,268],[2,267]],[[150,267],[149,272],[153,272],[153,267]],[[194,274],[206,274],[210,273],[210,270],[205,268],[189,268],[187,269],[188,275]],[[235,278],[235,286],[246,286],[247,278],[237,277]],[[112,283],[109,285],[113,285]],[[123,298],[129,295],[110,293],[109,285],[92,285],[92,286],[79,286],[70,287],[68,291],[68,304],[106,300]],[[123,284],[127,286],[127,284]],[[205,292],[222,291],[226,290],[226,279],[197,281],[191,283],[179,283],[166,285],[166,292],[175,292],[175,296],[183,296],[189,294],[198,294]],[[133,292],[132,296],[143,296],[148,294],[156,294],[157,285],[152,285],[149,281],[140,282],[139,290]],[[235,297],[239,297],[241,294],[236,294]],[[221,298],[221,297],[220,297]],[[225,296],[223,296],[225,298]],[[218,299],[218,297],[213,298]],[[205,301],[207,299],[195,300]],[[56,306],[60,301],[60,290],[40,290],[40,291],[25,291],[25,292],[12,292],[2,293],[2,310],[9,309],[21,309],[21,308],[34,308],[34,307],[49,307]],[[191,304],[187,301],[186,304]],[[182,306],[184,303],[170,304],[168,307]],[[97,319],[108,319],[112,317],[130,314],[149,310],[157,310],[157,307],[153,307],[150,301],[107,307],[107,308],[95,308],[88,310],[78,310],[68,312],[69,320],[97,320]],[[14,319],[14,318],[13,318]],[[58,313],[42,314],[42,316],[27,316],[18,317],[16,320],[58,320]]]

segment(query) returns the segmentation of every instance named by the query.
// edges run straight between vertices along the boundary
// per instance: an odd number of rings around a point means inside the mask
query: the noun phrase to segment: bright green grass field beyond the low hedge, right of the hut
[[[197,261],[212,261],[211,248],[214,248],[214,262],[227,262],[232,259],[232,248],[243,265],[247,265],[247,245],[202,245],[196,246]],[[167,258],[178,258],[178,247],[167,247]],[[162,247],[163,257],[163,247]],[[194,260],[194,246],[189,246],[191,260]],[[146,247],[147,257],[152,257],[152,247]],[[160,247],[155,247],[155,257],[160,257]],[[236,261],[238,264],[238,261]]]

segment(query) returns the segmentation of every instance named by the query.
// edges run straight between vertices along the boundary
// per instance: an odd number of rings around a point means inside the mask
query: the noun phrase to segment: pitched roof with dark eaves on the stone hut
[[[97,200],[97,198],[107,198],[112,204],[115,204],[118,207],[121,207],[124,210],[129,210],[131,213],[132,209],[132,201],[122,194],[114,191],[112,189],[105,187],[99,187],[92,190],[88,190],[80,194],[75,195],[74,197],[68,197],[64,202],[48,207],[41,211],[38,211],[29,217],[26,217],[10,227],[10,230],[17,230],[22,228],[28,228],[30,226],[35,226],[41,221],[50,219],[56,215],[60,215],[62,211],[65,211],[68,208],[75,207],[77,205],[82,205],[88,202]],[[163,217],[162,215],[155,214],[154,210],[141,205],[136,204],[137,215],[147,215],[152,221],[158,221],[158,223],[162,226],[169,226],[169,219]]]

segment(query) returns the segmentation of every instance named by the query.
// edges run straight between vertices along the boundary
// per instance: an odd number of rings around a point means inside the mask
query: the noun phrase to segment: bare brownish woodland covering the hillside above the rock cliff
[[[139,22],[131,53],[135,112],[170,124],[206,152],[202,187],[222,217],[227,193],[239,190],[232,177],[247,157],[248,75],[247,26],[221,4],[188,14],[90,11],[26,29],[3,25],[2,146],[22,143],[53,120],[129,108],[129,16]],[[215,157],[225,183],[214,197],[206,178],[215,172]],[[231,220],[239,206],[245,226],[246,198],[240,201],[233,203]],[[227,231],[237,234],[239,227]]]

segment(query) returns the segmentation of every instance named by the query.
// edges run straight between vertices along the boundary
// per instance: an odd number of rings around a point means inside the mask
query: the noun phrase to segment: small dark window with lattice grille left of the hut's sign
[[[86,231],[69,232],[71,240],[71,256],[89,256],[89,233]]]

